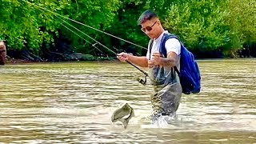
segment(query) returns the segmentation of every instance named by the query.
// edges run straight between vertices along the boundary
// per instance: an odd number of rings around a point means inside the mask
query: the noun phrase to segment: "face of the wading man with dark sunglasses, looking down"
[[[156,35],[158,34],[158,19],[153,18],[150,20],[147,20],[146,22],[143,22],[141,24],[142,31],[151,39],[156,38]]]

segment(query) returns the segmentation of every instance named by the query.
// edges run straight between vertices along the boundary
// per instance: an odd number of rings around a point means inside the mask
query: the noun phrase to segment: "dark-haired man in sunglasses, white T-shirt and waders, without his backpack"
[[[180,67],[181,43],[176,38],[168,39],[162,49],[166,49],[167,58],[161,53],[163,35],[169,34],[164,30],[158,15],[151,10],[146,10],[138,19],[138,25],[150,38],[146,56],[134,56],[120,53],[118,59],[122,62],[129,61],[135,65],[148,67],[154,93],[151,94],[153,107],[152,122],[156,122],[162,115],[173,115],[178,109],[182,96],[182,86],[174,66]]]

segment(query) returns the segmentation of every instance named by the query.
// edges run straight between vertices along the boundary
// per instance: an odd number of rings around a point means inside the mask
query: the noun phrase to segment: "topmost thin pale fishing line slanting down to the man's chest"
[[[107,35],[109,35],[109,36],[111,36],[111,37],[118,38],[117,36],[114,36],[113,34],[108,34],[108,33],[106,33],[105,31],[98,30],[98,29],[96,29],[96,28],[94,28],[94,27],[92,27],[92,26],[88,26],[88,25],[86,25],[86,24],[84,24],[84,23],[82,23],[82,22],[78,22],[78,21],[75,21],[74,19],[67,18],[67,17],[65,17],[65,16],[62,16],[61,14],[55,13],[55,12],[53,12],[53,11],[51,11],[51,10],[47,10],[46,8],[43,8],[42,6],[35,5],[34,3],[31,3],[31,2],[28,2],[28,1],[25,1],[25,0],[22,0],[22,1],[27,2],[27,3],[29,3],[30,5],[36,6],[36,7],[40,8],[40,9],[42,9],[42,10],[46,10],[46,11],[52,13],[52,14],[58,15],[58,16],[60,16],[60,17],[62,17],[62,18],[66,18],[66,19],[68,19],[68,20],[70,20],[70,21],[72,21],[72,22],[76,22],[76,23],[78,23],[78,24],[80,24],[80,25],[82,25],[82,26],[86,26],[86,27],[89,27],[90,29],[97,30],[98,32],[101,32],[101,33],[103,33],[103,34],[107,34]],[[140,48],[142,48],[142,49],[147,50],[145,47],[139,46],[139,45],[137,45],[137,44],[135,44],[135,43],[133,43],[133,42],[129,42],[129,41],[123,39],[123,38],[118,38],[118,39],[119,39],[119,40],[122,40],[122,41],[124,41],[124,42],[128,42],[128,43],[130,43],[130,44],[132,44],[132,45],[134,45],[134,46],[138,46],[138,47],[140,47]]]

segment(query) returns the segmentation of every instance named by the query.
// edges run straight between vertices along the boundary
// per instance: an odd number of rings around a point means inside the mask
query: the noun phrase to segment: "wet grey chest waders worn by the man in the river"
[[[151,40],[150,55],[152,46],[153,41]],[[162,54],[161,48],[160,54]],[[149,69],[149,78],[154,86],[154,92],[150,95],[153,108],[152,120],[157,120],[161,115],[175,114],[182,97],[182,86],[174,68],[170,66],[154,66]]]

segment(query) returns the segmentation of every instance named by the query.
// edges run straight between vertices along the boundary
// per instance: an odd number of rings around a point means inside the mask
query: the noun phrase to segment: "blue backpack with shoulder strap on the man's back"
[[[160,53],[167,58],[165,43],[169,38],[177,38],[174,34],[164,34],[161,42]],[[177,38],[178,39],[178,38]],[[180,71],[174,66],[174,70],[177,72],[182,85],[183,94],[196,94],[201,89],[201,76],[198,69],[198,64],[194,60],[194,54],[192,54],[181,43],[181,58],[180,58]]]

